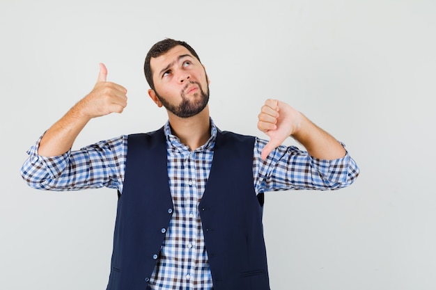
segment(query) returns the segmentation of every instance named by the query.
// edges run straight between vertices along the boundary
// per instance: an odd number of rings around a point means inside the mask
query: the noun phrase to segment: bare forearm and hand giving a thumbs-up
[[[127,106],[127,90],[106,79],[107,68],[100,63],[98,81],[93,90],[45,132],[40,141],[39,155],[56,156],[67,152],[89,120],[123,112]]]

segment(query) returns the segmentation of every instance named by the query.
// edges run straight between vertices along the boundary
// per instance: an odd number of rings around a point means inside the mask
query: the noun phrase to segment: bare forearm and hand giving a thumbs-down
[[[258,115],[258,129],[270,136],[270,142],[263,148],[261,157],[268,154],[292,136],[306,147],[311,156],[318,159],[334,160],[345,156],[345,149],[333,136],[313,124],[295,108],[276,99],[267,99]]]

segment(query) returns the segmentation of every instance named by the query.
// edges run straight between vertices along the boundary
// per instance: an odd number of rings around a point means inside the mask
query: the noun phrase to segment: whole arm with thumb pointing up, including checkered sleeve
[[[120,188],[126,154],[126,138],[102,141],[70,152],[81,129],[91,118],[123,111],[127,90],[106,81],[107,69],[100,64],[93,90],[50,127],[31,147],[21,170],[33,188],[54,191],[107,186]]]

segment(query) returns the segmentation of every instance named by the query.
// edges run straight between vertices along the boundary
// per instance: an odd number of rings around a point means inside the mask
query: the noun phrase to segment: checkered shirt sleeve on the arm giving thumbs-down
[[[281,145],[263,161],[260,153],[267,142],[256,138],[254,146],[256,193],[288,189],[334,190],[349,186],[359,175],[359,167],[348,152],[340,159],[323,160],[298,147]],[[343,143],[341,145],[345,148]]]

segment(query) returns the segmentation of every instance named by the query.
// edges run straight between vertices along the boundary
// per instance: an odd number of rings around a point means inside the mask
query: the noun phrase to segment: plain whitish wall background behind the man
[[[129,104],[75,147],[162,126],[142,67],[166,37],[198,52],[220,129],[265,138],[258,110],[281,99],[361,168],[340,191],[267,194],[272,289],[436,289],[435,15],[433,0],[1,0],[0,289],[105,289],[116,192],[36,191],[20,167],[100,62]]]

